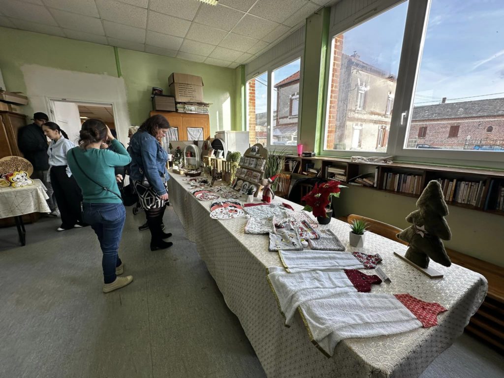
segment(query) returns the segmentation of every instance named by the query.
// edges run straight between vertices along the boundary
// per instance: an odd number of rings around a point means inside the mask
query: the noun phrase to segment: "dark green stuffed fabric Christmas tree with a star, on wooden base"
[[[445,219],[448,207],[439,182],[432,180],[416,202],[418,210],[410,213],[406,221],[413,225],[397,234],[409,243],[406,258],[416,265],[427,268],[429,258],[449,267],[452,265],[443,240],[450,240],[452,232]]]

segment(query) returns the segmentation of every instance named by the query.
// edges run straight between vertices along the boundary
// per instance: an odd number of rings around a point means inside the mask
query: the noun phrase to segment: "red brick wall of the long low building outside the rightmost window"
[[[457,137],[448,137],[450,127],[454,125],[459,126],[459,134]],[[491,133],[486,131],[489,126],[493,127]],[[418,138],[417,143],[434,147],[463,149],[467,136],[471,140],[481,139],[483,144],[485,140],[504,140],[504,116],[414,120],[408,139],[417,138],[420,127],[427,127],[427,132],[425,138]]]

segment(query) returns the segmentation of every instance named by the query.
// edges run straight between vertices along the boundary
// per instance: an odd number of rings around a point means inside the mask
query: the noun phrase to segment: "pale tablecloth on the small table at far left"
[[[33,180],[33,185],[14,188],[0,187],[0,218],[16,217],[31,213],[50,213],[47,206],[46,188],[42,181]]]

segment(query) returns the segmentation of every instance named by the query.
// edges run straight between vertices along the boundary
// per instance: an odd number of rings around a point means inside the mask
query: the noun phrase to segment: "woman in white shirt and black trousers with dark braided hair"
[[[54,197],[61,213],[61,226],[57,231],[74,227],[83,227],[81,215],[81,188],[77,184],[67,162],[67,152],[75,147],[67,133],[54,122],[42,125],[44,134],[52,141],[47,149],[49,155],[49,178],[54,190]]]

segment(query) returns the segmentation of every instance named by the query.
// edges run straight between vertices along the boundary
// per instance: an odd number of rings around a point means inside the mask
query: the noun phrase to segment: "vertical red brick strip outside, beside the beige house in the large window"
[[[333,68],[331,75],[331,87],[328,91],[329,111],[327,118],[327,140],[326,149],[334,148],[334,136],[336,133],[336,110],[338,108],[338,88],[340,85],[341,54],[343,51],[343,35],[334,38]]]

